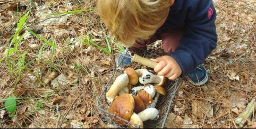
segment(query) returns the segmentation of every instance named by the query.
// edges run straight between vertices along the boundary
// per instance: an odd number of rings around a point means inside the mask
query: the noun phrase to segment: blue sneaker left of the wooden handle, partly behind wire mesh
[[[129,56],[131,57],[131,52],[128,51],[128,49],[126,49],[123,53],[123,55],[125,56]],[[125,56],[120,55],[117,60],[116,60],[116,67],[122,67],[125,68],[127,66],[129,66],[132,63],[132,59],[131,58],[127,58]]]

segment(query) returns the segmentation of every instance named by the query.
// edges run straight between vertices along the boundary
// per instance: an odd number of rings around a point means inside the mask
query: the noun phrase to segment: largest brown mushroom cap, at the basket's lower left
[[[132,95],[122,94],[113,101],[109,108],[109,112],[129,121],[133,113],[134,104]],[[120,121],[118,118],[114,118],[114,121],[119,124],[125,124],[124,121]]]

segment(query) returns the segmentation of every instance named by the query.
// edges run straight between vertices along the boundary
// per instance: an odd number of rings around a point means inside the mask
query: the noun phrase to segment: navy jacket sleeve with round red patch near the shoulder
[[[216,11],[212,1],[192,1],[186,16],[186,30],[173,57],[182,69],[181,77],[204,62],[217,45]]]

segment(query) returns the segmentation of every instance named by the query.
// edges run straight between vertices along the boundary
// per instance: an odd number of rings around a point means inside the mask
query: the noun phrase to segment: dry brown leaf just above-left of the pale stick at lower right
[[[231,107],[245,108],[247,104],[246,96],[241,93],[232,93],[229,101]]]

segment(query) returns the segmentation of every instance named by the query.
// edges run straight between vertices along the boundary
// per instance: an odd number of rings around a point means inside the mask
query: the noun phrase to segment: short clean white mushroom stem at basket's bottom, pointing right
[[[141,121],[155,120],[159,118],[159,112],[156,108],[147,108],[138,114]]]

